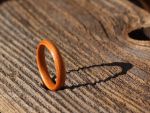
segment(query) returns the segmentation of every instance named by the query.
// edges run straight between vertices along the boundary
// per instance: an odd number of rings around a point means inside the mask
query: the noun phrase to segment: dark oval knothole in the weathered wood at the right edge
[[[150,28],[140,28],[129,33],[129,37],[135,40],[150,40]]]

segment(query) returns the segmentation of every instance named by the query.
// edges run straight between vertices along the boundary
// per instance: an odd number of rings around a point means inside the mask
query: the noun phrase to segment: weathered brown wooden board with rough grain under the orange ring
[[[1,3],[0,112],[149,113],[150,41],[128,37],[149,20],[127,0]],[[41,85],[35,51],[43,38],[56,43],[66,64],[58,92]]]

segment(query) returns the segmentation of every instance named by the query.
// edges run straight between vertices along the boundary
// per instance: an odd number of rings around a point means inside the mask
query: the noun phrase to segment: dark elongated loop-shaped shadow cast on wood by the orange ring
[[[94,67],[99,67],[99,66],[118,66],[118,67],[121,67],[121,72],[115,73],[112,76],[109,76],[104,80],[95,81],[94,83],[85,83],[85,84],[78,84],[78,85],[72,85],[72,86],[64,86],[60,90],[75,89],[75,88],[79,88],[79,87],[87,86],[87,85],[94,86],[97,83],[107,82],[107,81],[111,80],[112,78],[116,78],[120,75],[126,74],[133,67],[133,65],[131,63],[113,62],[113,63],[104,63],[104,64],[99,64],[99,65],[92,65],[92,66],[89,66],[88,69],[89,68],[94,68]]]

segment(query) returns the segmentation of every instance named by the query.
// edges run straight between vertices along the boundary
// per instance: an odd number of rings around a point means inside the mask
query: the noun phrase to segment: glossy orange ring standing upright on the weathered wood
[[[52,79],[48,74],[48,70],[45,62],[45,54],[44,54],[45,47],[48,48],[48,50],[51,52],[52,57],[54,59],[55,69],[56,69],[56,83],[52,81]],[[53,91],[60,89],[65,83],[66,72],[65,72],[63,59],[60,55],[59,50],[57,49],[54,43],[45,39],[42,40],[37,46],[36,53],[37,53],[36,60],[37,60],[38,69],[45,86],[48,89]]]

